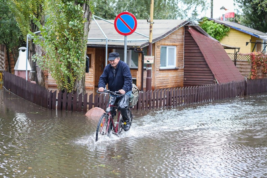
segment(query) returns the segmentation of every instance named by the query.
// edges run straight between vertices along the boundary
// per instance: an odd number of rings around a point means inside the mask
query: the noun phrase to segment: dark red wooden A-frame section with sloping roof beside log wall
[[[223,46],[199,26],[185,26],[184,86],[243,80]]]

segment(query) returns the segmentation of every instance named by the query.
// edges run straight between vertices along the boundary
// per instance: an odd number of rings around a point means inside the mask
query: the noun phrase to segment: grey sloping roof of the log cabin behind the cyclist
[[[124,45],[124,36],[120,35],[114,27],[114,20],[107,20],[112,23],[106,22],[104,20],[99,20],[95,18],[98,25],[102,28],[102,31],[105,33],[108,39],[116,39],[121,40],[121,42],[114,42],[112,40],[108,41],[108,46],[123,46]],[[180,28],[184,24],[188,23],[186,20],[153,20],[153,32],[152,32],[152,38],[154,41],[160,40],[160,38],[164,38],[165,36],[172,33],[174,30]],[[87,45],[88,46],[105,46],[106,45],[106,38],[104,34],[101,32],[100,28],[98,28],[97,23],[92,20],[90,30],[88,33],[88,40]],[[131,35],[127,36],[127,40],[129,39],[146,39],[147,41],[138,42],[138,41],[132,41],[127,43],[127,47],[144,47],[148,45],[149,40],[149,24],[147,23],[146,19],[137,20],[137,28],[135,32],[141,33],[146,35],[142,36],[138,33],[133,33]],[[93,39],[103,39],[102,42],[99,40],[93,41]],[[153,41],[153,42],[154,42]]]

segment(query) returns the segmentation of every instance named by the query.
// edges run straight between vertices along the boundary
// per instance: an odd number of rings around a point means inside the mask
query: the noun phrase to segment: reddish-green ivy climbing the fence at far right
[[[258,77],[258,69],[261,67],[261,71],[267,73],[267,54],[260,52],[249,53],[250,59],[248,62],[251,64],[250,78],[256,79]]]

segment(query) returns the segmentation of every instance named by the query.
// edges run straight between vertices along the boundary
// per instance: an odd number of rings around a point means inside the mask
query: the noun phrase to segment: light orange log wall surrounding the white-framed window
[[[161,46],[176,46],[176,69],[160,69]],[[184,75],[184,28],[181,27],[155,43],[152,69],[152,90],[183,86]]]

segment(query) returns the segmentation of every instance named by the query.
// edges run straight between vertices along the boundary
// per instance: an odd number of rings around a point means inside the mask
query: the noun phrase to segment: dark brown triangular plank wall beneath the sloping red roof
[[[203,54],[185,26],[184,86],[214,84],[215,79]]]

